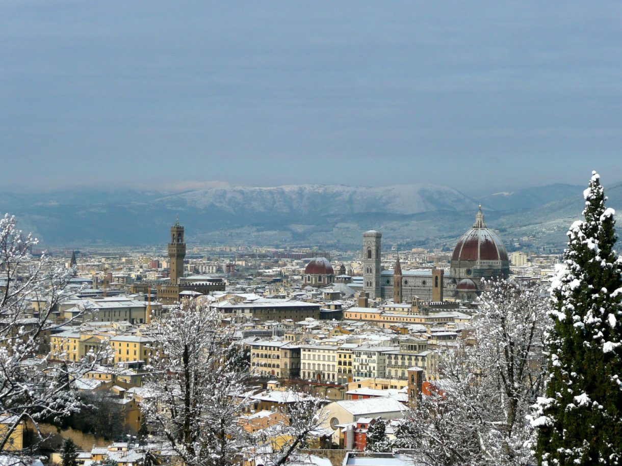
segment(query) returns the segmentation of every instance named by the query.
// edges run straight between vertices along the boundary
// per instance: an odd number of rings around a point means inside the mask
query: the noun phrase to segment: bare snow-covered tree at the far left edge
[[[17,229],[14,217],[0,218],[0,416],[6,427],[0,450],[24,421],[36,426],[75,411],[79,401],[71,380],[89,368],[55,365],[47,358],[36,360],[34,367],[28,364],[42,355],[44,334],[58,327],[52,312],[67,296],[75,273],[55,266],[46,255],[32,257],[36,244],[32,235]]]

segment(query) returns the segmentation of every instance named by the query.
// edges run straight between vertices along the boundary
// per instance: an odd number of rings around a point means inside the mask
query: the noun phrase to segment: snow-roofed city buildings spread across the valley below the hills
[[[127,435],[148,434],[157,426],[144,423],[141,403],[150,396],[144,380],[159,342],[146,330],[176,303],[201,299],[223,329],[233,329],[256,381],[253,409],[239,413],[244,429],[269,432],[282,423],[288,394],[304,388],[327,400],[316,447],[364,448],[373,419],[384,419],[391,435],[422,393],[442,385],[439,351],[472,339],[482,280],[545,281],[557,262],[508,254],[481,208],[451,252],[383,252],[382,239],[379,231],[363,232],[356,252],[231,246],[188,254],[176,220],[164,254],[68,251],[65,265],[77,270],[72,296],[53,309],[40,357],[72,364],[106,349],[106,359],[73,385],[118,406]],[[44,304],[32,300],[33,319]],[[24,425],[11,444],[21,450],[26,443]],[[84,448],[79,462],[129,466],[149,452],[171,454],[166,445],[111,442]]]

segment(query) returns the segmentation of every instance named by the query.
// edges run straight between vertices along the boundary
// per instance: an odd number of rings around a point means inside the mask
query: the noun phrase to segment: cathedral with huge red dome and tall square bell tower
[[[471,300],[480,291],[480,281],[508,278],[509,257],[501,239],[486,227],[479,211],[475,224],[460,237],[453,249],[449,276],[443,270],[405,270],[397,258],[393,270],[382,270],[382,233],[363,233],[363,290],[373,299],[411,303],[415,297],[443,301],[444,297]]]

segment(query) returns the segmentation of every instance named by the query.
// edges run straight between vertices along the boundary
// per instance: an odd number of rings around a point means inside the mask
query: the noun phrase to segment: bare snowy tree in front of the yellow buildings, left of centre
[[[233,331],[199,298],[152,322],[149,335],[157,347],[144,420],[188,466],[237,462],[246,446],[237,416],[247,401],[248,373],[238,370],[243,354]]]

